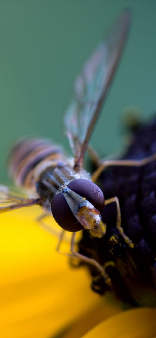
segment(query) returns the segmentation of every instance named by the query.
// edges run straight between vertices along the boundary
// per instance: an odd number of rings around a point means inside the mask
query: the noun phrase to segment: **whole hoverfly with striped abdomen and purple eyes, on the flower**
[[[110,279],[105,268],[96,260],[75,251],[76,232],[85,228],[91,236],[102,238],[106,233],[106,224],[101,217],[102,209],[115,202],[118,232],[130,247],[133,247],[133,243],[121,227],[118,198],[105,200],[103,192],[94,182],[108,166],[140,166],[156,158],[154,154],[141,161],[102,161],[90,150],[97,170],[91,176],[83,169],[84,154],[124,49],[130,21],[129,11],[124,11],[76,78],[74,96],[64,116],[66,136],[74,158],[67,158],[60,146],[48,140],[24,138],[12,149],[9,174],[16,186],[28,188],[36,193],[36,197],[24,198],[1,186],[1,203],[5,202],[5,205],[0,207],[0,212],[34,204],[43,207],[46,215],[52,214],[63,229],[58,251],[64,232],[72,232],[71,256],[93,264],[107,284],[110,284]]]

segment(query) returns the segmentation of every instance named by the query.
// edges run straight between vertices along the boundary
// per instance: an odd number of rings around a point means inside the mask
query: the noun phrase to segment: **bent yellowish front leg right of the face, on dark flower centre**
[[[105,201],[105,205],[109,204],[109,203],[116,203],[116,209],[117,209],[117,220],[116,220],[116,227],[117,230],[119,231],[119,234],[122,236],[122,238],[124,238],[125,242],[129,245],[130,248],[134,247],[133,242],[131,241],[131,239],[125,235],[123,228],[121,227],[121,212],[120,212],[120,205],[119,205],[119,201],[117,197],[112,197],[109,199],[106,199]]]

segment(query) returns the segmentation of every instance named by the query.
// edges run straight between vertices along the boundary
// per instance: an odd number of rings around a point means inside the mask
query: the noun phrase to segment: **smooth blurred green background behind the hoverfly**
[[[124,57],[91,144],[121,148],[123,110],[156,111],[155,1],[0,1],[0,181],[10,145],[23,135],[52,138],[69,149],[62,116],[82,63],[126,7],[133,23]]]

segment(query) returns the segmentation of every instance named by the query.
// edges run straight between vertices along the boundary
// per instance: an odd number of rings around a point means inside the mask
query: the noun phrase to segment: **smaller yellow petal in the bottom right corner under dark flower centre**
[[[103,321],[83,338],[154,338],[155,335],[156,309],[139,308]]]

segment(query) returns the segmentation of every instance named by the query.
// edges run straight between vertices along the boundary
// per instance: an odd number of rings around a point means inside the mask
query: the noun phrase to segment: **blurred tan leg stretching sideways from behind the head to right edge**
[[[104,171],[107,167],[141,167],[154,160],[156,160],[156,153],[142,160],[108,160],[104,162],[99,161],[99,166],[92,175],[92,182],[95,182],[99,175],[102,173],[102,171]]]

